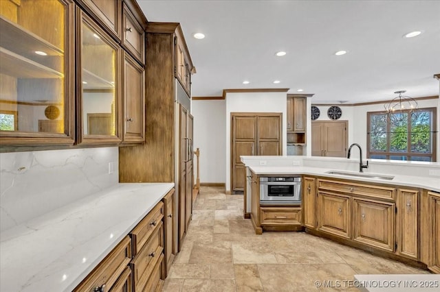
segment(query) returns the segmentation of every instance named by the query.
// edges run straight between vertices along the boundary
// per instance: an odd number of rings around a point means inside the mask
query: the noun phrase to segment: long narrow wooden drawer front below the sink
[[[364,195],[369,197],[380,197],[395,199],[395,188],[386,186],[375,186],[374,184],[358,184],[355,182],[340,182],[337,180],[318,180],[318,188],[338,193],[349,193],[352,195]]]

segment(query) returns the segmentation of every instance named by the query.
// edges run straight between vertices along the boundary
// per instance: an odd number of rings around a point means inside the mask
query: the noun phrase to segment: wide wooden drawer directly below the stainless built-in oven
[[[296,224],[301,225],[301,208],[261,207],[261,225]]]

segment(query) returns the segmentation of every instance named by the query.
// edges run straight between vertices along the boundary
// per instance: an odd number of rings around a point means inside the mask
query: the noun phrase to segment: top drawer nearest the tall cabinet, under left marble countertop
[[[148,215],[131,231],[130,236],[133,241],[133,256],[142,249],[148,237],[151,236],[155,228],[162,222],[164,217],[164,203],[159,202]]]

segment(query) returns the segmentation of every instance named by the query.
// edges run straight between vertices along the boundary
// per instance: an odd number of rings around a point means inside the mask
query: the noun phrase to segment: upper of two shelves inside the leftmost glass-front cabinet
[[[14,52],[19,55],[30,55],[35,51],[43,51],[47,53],[47,56],[64,55],[63,49],[2,16],[0,16],[0,31],[0,46],[8,49],[14,48]]]

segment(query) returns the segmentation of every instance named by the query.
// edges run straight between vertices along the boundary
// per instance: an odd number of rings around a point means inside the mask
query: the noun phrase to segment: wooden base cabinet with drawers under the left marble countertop
[[[83,291],[162,291],[173,263],[174,189],[78,284]]]

